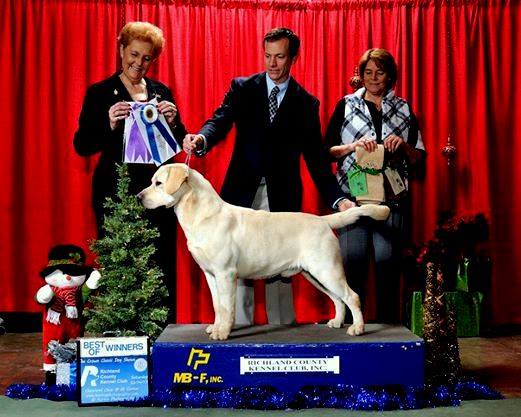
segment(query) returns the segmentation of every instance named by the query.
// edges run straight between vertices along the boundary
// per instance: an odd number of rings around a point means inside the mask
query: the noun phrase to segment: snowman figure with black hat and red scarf
[[[43,316],[43,370],[46,382],[56,378],[56,361],[49,353],[49,342],[60,344],[83,336],[82,286],[98,288],[100,273],[85,265],[85,252],[75,245],[54,246],[47,266],[40,272],[46,284],[36,293],[36,301],[46,306]]]

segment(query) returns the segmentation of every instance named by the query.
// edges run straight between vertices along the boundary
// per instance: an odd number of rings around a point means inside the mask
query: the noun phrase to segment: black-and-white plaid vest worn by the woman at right
[[[352,143],[362,137],[372,138],[376,140],[376,131],[371,119],[369,108],[363,99],[365,87],[360,88],[353,94],[344,97],[345,112],[344,122],[340,136],[343,144]],[[382,141],[389,135],[400,136],[404,141],[417,149],[425,150],[421,133],[417,130],[416,125],[412,126],[414,115],[411,112],[409,104],[402,98],[394,95],[394,91],[389,92],[382,99]],[[414,129],[414,131],[412,131]],[[415,143],[412,143],[412,142]],[[338,183],[342,187],[342,191],[350,194],[347,183],[347,171],[355,161],[355,153],[348,155],[341,163],[339,163],[337,171]],[[397,169],[400,176],[407,186],[407,164],[404,160],[400,163],[394,163],[392,168]]]

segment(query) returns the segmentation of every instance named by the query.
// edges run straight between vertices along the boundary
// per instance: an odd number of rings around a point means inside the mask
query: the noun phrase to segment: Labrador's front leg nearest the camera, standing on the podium
[[[226,340],[235,321],[235,292],[237,290],[237,272],[227,271],[215,276],[218,321],[214,324],[210,339]]]

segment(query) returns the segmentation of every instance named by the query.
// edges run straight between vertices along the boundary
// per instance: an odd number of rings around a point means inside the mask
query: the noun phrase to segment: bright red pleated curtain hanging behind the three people
[[[0,311],[40,311],[33,296],[48,249],[65,242],[86,248],[94,237],[96,160],[77,156],[72,137],[87,86],[117,69],[119,29],[148,20],[167,39],[149,75],[171,86],[190,131],[211,115],[232,77],[262,70],[261,39],[272,27],[290,27],[301,37],[293,74],[320,99],[323,127],[351,91],[362,52],[390,50],[400,70],[397,92],[418,115],[428,150],[426,179],[413,190],[414,240],[431,237],[440,210],[485,213],[493,319],[521,323],[518,1],[5,0],[0,16]],[[440,154],[449,135],[457,147],[451,174]],[[229,138],[192,159],[217,189],[232,144]],[[308,173],[303,176],[304,211],[323,211]],[[178,248],[178,321],[209,322],[209,291],[182,233]],[[294,288],[299,321],[330,315],[331,303],[304,280]]]

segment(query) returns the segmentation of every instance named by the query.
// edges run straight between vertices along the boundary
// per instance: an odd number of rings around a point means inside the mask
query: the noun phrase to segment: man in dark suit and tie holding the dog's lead
[[[222,104],[199,134],[183,141],[187,153],[206,154],[226,138],[235,124],[237,135],[221,190],[228,203],[269,211],[300,211],[300,157],[324,200],[345,210],[344,198],[322,145],[318,100],[290,77],[300,40],[293,31],[276,28],[264,36],[266,71],[232,80]],[[253,322],[253,287],[239,280],[236,323]],[[270,324],[295,321],[291,281],[280,277],[266,285]]]

